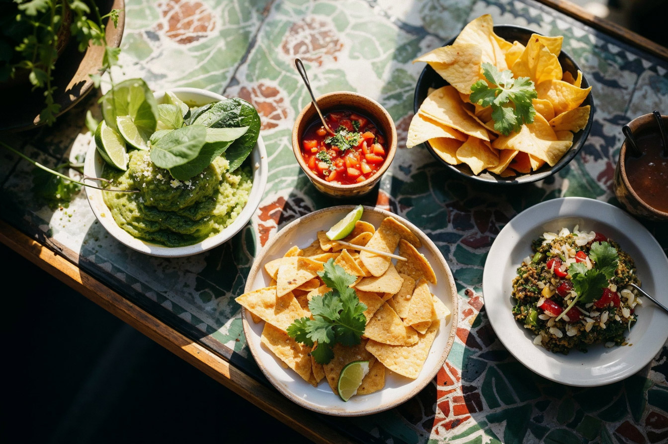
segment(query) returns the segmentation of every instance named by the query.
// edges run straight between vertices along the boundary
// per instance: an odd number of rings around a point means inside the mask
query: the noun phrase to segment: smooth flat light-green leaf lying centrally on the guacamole
[[[205,142],[204,126],[184,126],[166,134],[151,146],[151,160],[156,166],[169,170],[196,158]]]

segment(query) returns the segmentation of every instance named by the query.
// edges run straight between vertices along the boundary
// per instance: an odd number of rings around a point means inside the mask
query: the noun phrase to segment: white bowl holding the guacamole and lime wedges
[[[212,101],[220,101],[225,98],[220,94],[197,88],[174,88],[170,89],[170,91],[183,101],[197,106],[205,105]],[[160,103],[162,97],[164,97],[164,93],[156,93],[158,103]],[[202,240],[202,242],[188,246],[168,247],[134,238],[130,233],[126,232],[126,230],[120,228],[120,226],[116,224],[107,204],[105,204],[102,199],[102,191],[86,187],[86,196],[88,196],[90,208],[92,208],[96,218],[100,221],[100,224],[102,224],[109,234],[114,236],[118,242],[129,246],[133,250],[150,254],[151,256],[168,258],[190,256],[192,254],[210,250],[211,248],[226,242],[234,236],[234,234],[238,233],[239,230],[246,225],[248,220],[251,220],[251,217],[260,205],[260,200],[265,192],[265,187],[267,186],[267,150],[265,150],[265,142],[263,142],[262,136],[258,137],[257,144],[255,145],[255,148],[253,148],[253,152],[251,152],[251,160],[253,162],[253,188],[251,189],[251,195],[248,196],[248,202],[246,202],[244,209],[234,222],[220,233],[211,236],[210,238],[206,238]],[[102,177],[102,168],[104,168],[104,160],[102,160],[102,156],[100,156],[98,150],[96,150],[95,142],[92,142],[88,147],[88,152],[86,152],[86,162],[83,164],[83,173],[86,174],[86,176],[100,178]]]

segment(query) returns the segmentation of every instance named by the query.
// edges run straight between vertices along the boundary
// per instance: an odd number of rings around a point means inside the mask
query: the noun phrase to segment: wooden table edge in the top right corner
[[[650,39],[647,39],[647,37],[643,37],[640,34],[630,31],[621,25],[617,25],[617,23],[613,23],[601,17],[597,17],[586,9],[571,3],[568,0],[536,1],[551,7],[552,9],[556,9],[556,11],[566,14],[569,17],[581,21],[582,23],[585,23],[595,29],[598,29],[599,31],[603,31],[612,37],[616,37],[625,43],[629,43],[632,46],[644,49],[652,55],[661,57],[661,59],[668,60],[668,48],[663,47],[658,43],[651,41]]]

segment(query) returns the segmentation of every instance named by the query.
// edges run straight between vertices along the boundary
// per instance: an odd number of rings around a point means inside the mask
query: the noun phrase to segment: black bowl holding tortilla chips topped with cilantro
[[[526,45],[526,43],[529,40],[529,37],[535,31],[532,31],[531,29],[522,26],[495,25],[494,32],[499,37],[503,37],[508,41],[512,42],[517,40],[523,45]],[[448,43],[446,43],[446,46],[452,45],[452,43],[454,43],[455,41],[455,38],[448,41]],[[580,69],[580,67],[578,67],[578,64],[575,63],[575,61],[572,59],[572,57],[570,57],[570,55],[564,53],[564,51],[561,51],[561,53],[559,54],[559,63],[561,63],[561,67],[564,72],[568,71],[569,73],[571,73],[573,78],[577,77],[578,69]],[[415,114],[418,113],[420,105],[422,105],[424,99],[427,98],[428,90],[430,87],[440,88],[449,84],[450,83],[448,83],[443,79],[443,77],[438,75],[438,73],[436,73],[436,71],[434,71],[434,69],[430,65],[427,65],[422,70],[422,74],[420,74],[420,78],[418,79],[418,84],[415,85],[415,98],[413,99],[413,111],[415,112]],[[582,73],[582,85],[580,85],[580,87],[582,88],[589,87],[589,82],[587,81],[587,77],[585,77],[584,73]],[[432,145],[429,142],[425,142],[424,144],[429,150],[429,152],[432,153],[432,156],[434,156],[436,160],[444,164],[444,166],[447,166],[448,168],[454,170],[458,174],[461,174],[462,176],[466,176],[473,180],[478,180],[480,182],[491,182],[494,184],[504,184],[504,185],[527,184],[529,182],[536,182],[538,180],[543,180],[548,176],[552,176],[552,174],[564,168],[564,166],[566,166],[566,164],[568,164],[568,162],[570,162],[576,156],[576,154],[578,154],[580,148],[582,148],[582,145],[585,144],[585,140],[587,140],[587,136],[589,136],[589,131],[591,130],[591,124],[594,120],[594,99],[592,98],[591,91],[589,92],[589,95],[587,95],[585,101],[582,102],[582,106],[584,105],[591,105],[591,112],[589,113],[589,121],[587,122],[587,126],[585,126],[584,130],[577,132],[573,135],[573,144],[570,147],[570,150],[568,150],[566,154],[564,154],[564,156],[559,160],[559,162],[556,163],[556,165],[550,167],[548,164],[545,164],[544,166],[542,166],[542,168],[539,168],[537,171],[532,171],[528,174],[518,174],[517,176],[513,176],[510,178],[502,178],[497,174],[484,171],[480,173],[478,176],[476,176],[473,174],[468,165],[466,164],[450,165],[448,164],[448,162],[442,160],[442,158],[440,158],[438,154],[436,154],[436,152],[434,152],[434,148],[432,148]]]

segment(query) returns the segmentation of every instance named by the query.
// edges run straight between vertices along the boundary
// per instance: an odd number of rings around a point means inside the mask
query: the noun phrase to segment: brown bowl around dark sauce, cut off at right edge
[[[668,116],[661,116],[663,123],[668,126]],[[657,122],[653,114],[645,114],[629,122],[629,127],[634,134],[643,132],[643,130],[658,130]],[[621,150],[619,150],[619,160],[615,168],[615,196],[628,212],[635,214],[643,219],[655,220],[659,222],[668,221],[668,213],[659,211],[645,203],[640,196],[631,188],[626,171],[626,159],[629,156],[627,142],[624,140]]]

